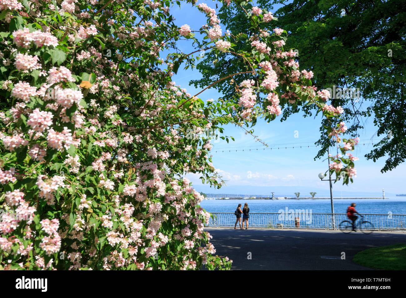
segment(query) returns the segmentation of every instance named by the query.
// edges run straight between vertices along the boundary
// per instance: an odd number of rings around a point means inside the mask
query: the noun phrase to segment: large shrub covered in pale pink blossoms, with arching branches
[[[283,51],[286,32],[260,29],[271,13],[247,12],[253,50],[235,53],[233,44],[248,36],[223,35],[214,9],[197,5],[208,19],[201,41],[173,23],[171,5],[0,0],[3,268],[228,269],[231,260],[214,255],[203,230],[210,217],[199,206],[203,197],[182,178],[201,173],[203,182],[222,184],[210,140],[186,137],[188,129],[270,121],[280,99],[339,117],[311,85],[311,71],[300,73],[294,52]],[[162,58],[179,39],[197,50]],[[250,66],[252,79],[236,86],[238,103],[205,105],[171,80],[202,49]],[[344,127],[330,136],[340,142]],[[354,148],[344,141],[343,152]],[[334,158],[331,171],[354,174],[353,157]]]

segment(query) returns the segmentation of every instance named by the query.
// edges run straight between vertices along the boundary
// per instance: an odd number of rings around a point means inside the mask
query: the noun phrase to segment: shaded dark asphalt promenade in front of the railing
[[[359,251],[406,243],[406,232],[355,232],[205,228],[217,255],[233,260],[233,270],[366,270],[352,262]],[[345,259],[341,259],[341,253]],[[251,259],[248,259],[251,253]]]

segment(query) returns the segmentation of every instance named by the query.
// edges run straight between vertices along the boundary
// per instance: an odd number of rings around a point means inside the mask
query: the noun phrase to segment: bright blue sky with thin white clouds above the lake
[[[199,1],[198,3],[206,3],[209,7],[215,8],[214,1]],[[175,24],[182,26],[188,24],[192,30],[199,28],[206,23],[206,17],[196,8],[192,8],[188,4],[182,3],[181,9],[179,6],[173,6],[171,12],[175,17]],[[219,3],[219,7],[220,7]],[[224,30],[223,30],[224,31]],[[179,43],[179,48],[185,53],[192,51],[190,42]],[[173,80],[177,85],[186,88],[190,94],[196,94],[200,89],[189,86],[191,79],[198,79],[201,75],[197,70],[184,70],[179,68],[177,75],[173,76]],[[207,99],[217,99],[221,96],[215,89],[209,89],[199,95],[203,101]],[[327,161],[316,159],[319,148],[314,146],[314,142],[320,136],[319,127],[322,116],[314,118],[303,118],[302,113],[290,116],[288,120],[280,122],[280,116],[273,122],[265,123],[259,119],[254,126],[255,135],[265,141],[270,147],[274,144],[280,147],[292,147],[294,149],[266,149],[260,143],[256,142],[252,136],[245,135],[244,131],[233,125],[225,126],[225,135],[232,135],[235,141],[226,141],[221,139],[212,140],[214,144],[213,164],[227,181],[228,186],[232,185],[251,185],[251,186],[312,186],[321,189],[328,189],[327,182],[321,182],[317,177],[320,172],[325,172],[328,168]],[[388,193],[406,193],[404,186],[406,165],[402,164],[391,172],[382,174],[380,169],[383,167],[385,159],[380,159],[376,163],[367,161],[365,154],[373,148],[371,139],[376,134],[377,127],[373,124],[373,118],[365,119],[365,129],[361,131],[360,144],[353,154],[359,157],[356,161],[357,177],[354,178],[354,183],[340,185],[337,182],[334,186],[335,191],[367,191],[381,193],[382,188]],[[297,137],[298,136],[298,137]],[[376,135],[374,139],[376,139]],[[298,144],[302,143],[302,144]],[[365,143],[365,146],[363,145]],[[255,147],[250,147],[255,146]],[[299,149],[296,146],[304,146]],[[239,147],[239,148],[234,148]],[[244,148],[242,148],[244,147]],[[250,151],[237,152],[215,152],[216,148],[223,150],[242,150],[251,149]],[[259,150],[253,150],[253,149]],[[332,153],[336,153],[332,149]],[[198,174],[189,174],[188,178],[193,182],[194,186],[201,185]],[[227,193],[227,187],[224,187],[224,192]]]

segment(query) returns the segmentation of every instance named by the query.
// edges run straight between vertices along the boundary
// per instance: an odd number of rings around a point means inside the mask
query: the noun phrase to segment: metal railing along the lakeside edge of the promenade
[[[296,210],[298,211],[298,210]],[[265,213],[250,212],[249,227],[274,229],[339,229],[341,221],[348,220],[346,213]],[[236,217],[231,212],[211,212],[212,218],[206,227],[234,227]],[[406,214],[362,214],[363,221],[372,223],[378,231],[406,231]],[[334,219],[334,224],[333,224]],[[237,223],[238,227],[238,223]],[[359,228],[359,227],[357,227]]]

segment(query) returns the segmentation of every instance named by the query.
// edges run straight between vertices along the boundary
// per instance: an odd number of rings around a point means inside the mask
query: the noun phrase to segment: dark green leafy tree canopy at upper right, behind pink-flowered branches
[[[390,1],[326,1],[258,0],[263,9],[271,10],[283,4],[274,15],[277,21],[263,24],[264,28],[284,28],[290,34],[284,49],[292,49],[295,60],[313,72],[317,88],[328,89],[333,106],[342,106],[342,119],[348,124],[347,133],[357,137],[365,121],[373,118],[376,135],[382,140],[366,154],[376,161],[387,158],[382,172],[393,169],[406,158],[406,5],[401,0]],[[219,18],[232,34],[252,34],[241,22],[244,11],[238,6],[223,6]],[[237,44],[244,49],[245,44]],[[213,66],[214,65],[214,66]],[[194,80],[195,86],[204,85],[216,77],[245,69],[238,58],[217,58],[207,55],[197,68],[203,78]],[[242,74],[241,77],[246,76]],[[359,88],[359,89],[358,89]],[[224,97],[233,97],[233,86],[224,82],[219,88]],[[348,94],[345,91],[358,91]],[[354,96],[355,95],[355,96]],[[359,96],[358,96],[359,95]],[[314,114],[311,105],[281,105],[283,117],[304,111],[304,117]],[[317,157],[322,157],[332,143],[326,134],[326,121],[320,127],[322,146]]]

